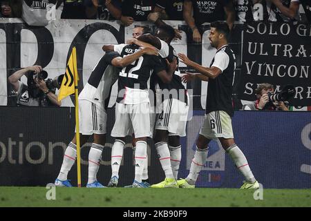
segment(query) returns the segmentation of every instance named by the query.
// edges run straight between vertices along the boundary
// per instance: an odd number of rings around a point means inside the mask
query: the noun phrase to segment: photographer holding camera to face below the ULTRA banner
[[[269,99],[269,93],[274,93],[272,84],[258,84],[255,90],[257,99],[256,101],[243,106],[245,111],[289,111],[284,102],[272,102]]]

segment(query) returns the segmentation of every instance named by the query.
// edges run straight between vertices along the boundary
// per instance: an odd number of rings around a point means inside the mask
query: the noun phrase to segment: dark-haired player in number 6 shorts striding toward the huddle
[[[225,151],[232,158],[236,169],[245,177],[245,182],[241,189],[259,188],[259,183],[256,181],[245,155],[234,141],[232,130],[232,117],[234,115],[232,91],[236,70],[236,57],[227,44],[228,36],[229,26],[225,21],[214,21],[211,23],[209,41],[211,46],[216,48],[217,51],[209,68],[191,61],[184,54],[178,54],[182,63],[198,70],[200,75],[205,76],[205,79],[209,81],[205,118],[196,141],[196,153],[191,162],[189,175],[186,179],[178,180],[178,186],[182,188],[195,187],[201,168],[207,160],[208,144],[214,139],[220,141]],[[186,80],[192,78],[192,75],[188,74],[186,76],[184,77]],[[200,79],[203,79],[202,76]]]

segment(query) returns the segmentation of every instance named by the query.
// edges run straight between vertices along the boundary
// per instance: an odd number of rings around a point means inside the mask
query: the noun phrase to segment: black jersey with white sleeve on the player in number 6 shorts
[[[214,59],[211,61],[210,67],[212,66],[219,68],[222,73],[215,79],[209,78],[205,111],[206,113],[225,111],[228,115],[233,116],[232,90],[236,57],[228,45],[217,50]]]

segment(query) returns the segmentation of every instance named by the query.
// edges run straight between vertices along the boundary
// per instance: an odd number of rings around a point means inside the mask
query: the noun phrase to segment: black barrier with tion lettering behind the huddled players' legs
[[[0,107],[0,186],[46,186],[54,182],[62,166],[64,150],[75,133],[74,108]],[[114,109],[108,111],[107,132],[114,124]],[[109,129],[110,128],[110,129]],[[98,180],[108,184],[111,177],[111,147],[113,138],[107,137],[102,154]],[[82,147],[82,186],[88,178],[88,151],[92,140]],[[155,148],[149,140],[150,182],[164,179]],[[152,145],[151,145],[152,144]],[[124,159],[120,166],[120,186],[134,179],[131,138],[126,140]],[[68,173],[77,186],[77,166]]]

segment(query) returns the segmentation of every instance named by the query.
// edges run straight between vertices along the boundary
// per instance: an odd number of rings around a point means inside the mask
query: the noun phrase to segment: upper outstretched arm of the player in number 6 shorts
[[[211,79],[215,79],[222,72],[219,68],[216,68],[214,66],[212,66],[211,68],[200,66],[200,64],[198,64],[194,61],[191,61],[186,55],[184,55],[182,53],[179,53],[178,57],[182,63],[198,70],[199,73],[201,73],[202,75],[205,75]]]

